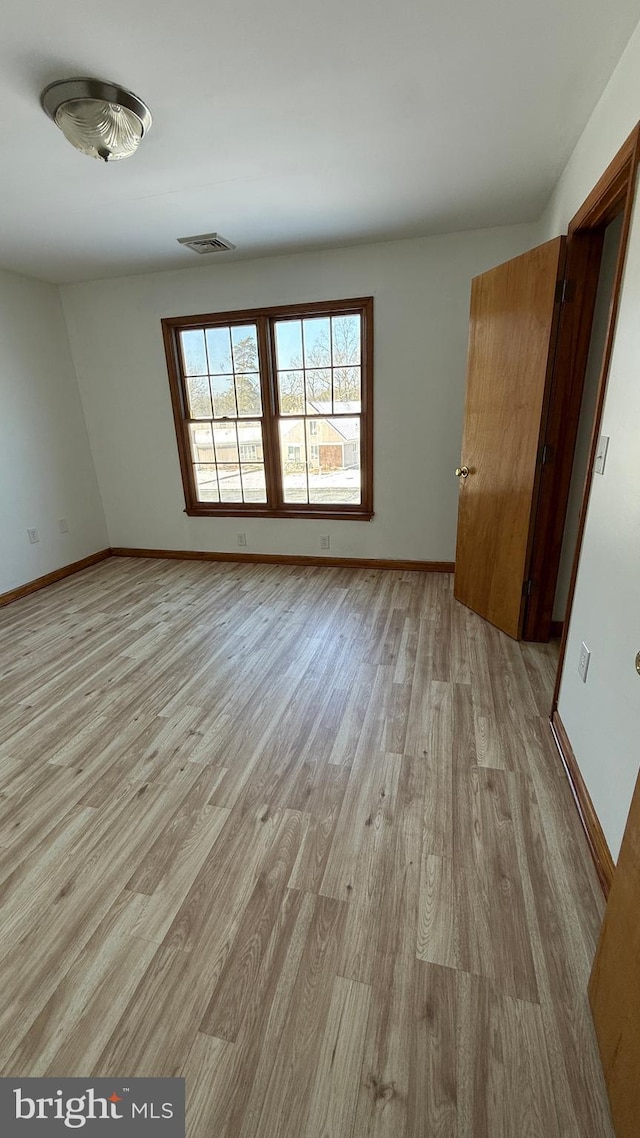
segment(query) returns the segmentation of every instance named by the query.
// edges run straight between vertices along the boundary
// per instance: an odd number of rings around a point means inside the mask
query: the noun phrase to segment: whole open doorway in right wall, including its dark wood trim
[[[631,226],[640,124],[630,134],[569,223],[553,378],[543,432],[533,527],[530,597],[523,638],[560,632],[556,709],[568,620]]]

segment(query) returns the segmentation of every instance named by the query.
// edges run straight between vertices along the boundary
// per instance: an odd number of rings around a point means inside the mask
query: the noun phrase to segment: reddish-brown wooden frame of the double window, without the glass
[[[280,415],[278,409],[274,324],[282,319],[359,315],[361,319],[361,411],[358,414]],[[180,353],[180,332],[252,323],[257,329],[259,369],[262,391],[264,472],[268,501],[198,502],[189,444],[187,390]],[[178,442],[178,455],[184,489],[184,512],[192,518],[317,518],[336,521],[369,521],[374,517],[374,298],[350,297],[342,300],[315,300],[307,304],[277,305],[268,308],[240,308],[232,312],[195,316],[167,316],[162,321],[164,349],[171,390],[171,405]],[[280,419],[360,419],[359,504],[286,503],[280,467]],[[224,421],[224,420],[221,420]],[[236,422],[237,420],[233,420]],[[241,419],[239,420],[241,421]],[[210,420],[203,420],[210,422]]]

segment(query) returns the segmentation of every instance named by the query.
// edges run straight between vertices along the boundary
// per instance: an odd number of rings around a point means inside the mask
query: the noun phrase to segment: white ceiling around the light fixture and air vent
[[[640,0],[2,0],[0,263],[50,281],[535,220]],[[40,108],[131,88],[105,165]]]

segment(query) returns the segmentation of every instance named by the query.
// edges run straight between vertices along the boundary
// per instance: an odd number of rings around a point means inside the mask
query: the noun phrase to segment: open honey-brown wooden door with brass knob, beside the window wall
[[[564,259],[558,237],[471,284],[454,595],[516,638]]]

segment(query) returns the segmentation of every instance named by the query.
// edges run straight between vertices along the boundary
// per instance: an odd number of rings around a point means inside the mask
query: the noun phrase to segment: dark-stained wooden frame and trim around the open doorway
[[[547,420],[541,431],[539,456],[541,477],[535,502],[528,571],[532,586],[523,621],[523,638],[528,641],[548,641],[551,635],[553,601],[591,343],[605,229],[618,214],[623,214],[551,714],[556,711],[558,704],[593,462],[600,435],[620,307],[639,159],[640,123],[623,142],[602,176],[572,217],[567,231],[565,282],[553,357],[553,377]]]

